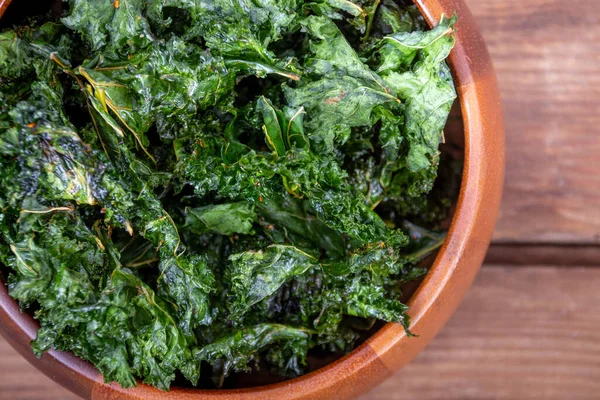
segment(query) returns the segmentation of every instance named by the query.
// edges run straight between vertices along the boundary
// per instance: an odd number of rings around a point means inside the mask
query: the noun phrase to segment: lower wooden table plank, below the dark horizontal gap
[[[586,399],[600,393],[600,268],[486,266],[415,361],[371,399]],[[417,332],[418,333],[418,332]],[[0,398],[72,399],[0,340]]]

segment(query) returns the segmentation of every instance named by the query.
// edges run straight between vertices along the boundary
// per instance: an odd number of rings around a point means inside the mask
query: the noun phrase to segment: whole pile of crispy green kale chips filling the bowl
[[[0,34],[0,262],[50,348],[106,381],[302,374],[443,241],[455,99],[391,0],[70,0]],[[409,222],[410,221],[410,222]],[[415,225],[418,224],[419,226]],[[418,333],[418,332],[416,332]]]

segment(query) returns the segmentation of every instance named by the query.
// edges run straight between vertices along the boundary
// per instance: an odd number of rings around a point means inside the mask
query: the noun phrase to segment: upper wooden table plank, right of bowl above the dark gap
[[[467,0],[502,92],[497,242],[600,243],[600,1]]]

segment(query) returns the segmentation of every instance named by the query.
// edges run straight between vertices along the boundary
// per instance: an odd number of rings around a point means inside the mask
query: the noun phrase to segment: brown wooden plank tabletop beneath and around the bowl
[[[486,264],[438,338],[364,399],[600,398],[600,1],[468,0],[503,95]],[[0,399],[74,398],[0,339]]]

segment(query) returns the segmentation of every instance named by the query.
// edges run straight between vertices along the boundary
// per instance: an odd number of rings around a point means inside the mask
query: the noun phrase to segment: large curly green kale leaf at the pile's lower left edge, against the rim
[[[3,262],[15,271],[11,296],[39,304],[36,354],[51,347],[73,351],[107,382],[125,387],[141,376],[168,389],[176,370],[196,381],[195,339],[180,330],[168,302],[122,268],[107,229],[101,223],[89,229],[72,210],[27,204],[18,230],[2,231],[13,254]]]

